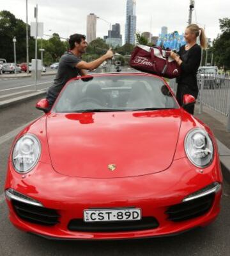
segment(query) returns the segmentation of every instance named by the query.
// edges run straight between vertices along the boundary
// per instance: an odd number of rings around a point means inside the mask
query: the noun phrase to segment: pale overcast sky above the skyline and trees
[[[73,33],[86,35],[86,17],[95,13],[98,17],[121,24],[125,38],[127,0],[27,0],[28,22],[34,21],[34,6],[38,4],[38,21],[43,22],[44,34],[58,33],[68,38]],[[137,32],[150,31],[158,36],[160,28],[182,33],[188,22],[190,0],[136,0]],[[0,0],[0,10],[8,10],[17,19],[26,22],[26,0]],[[230,0],[195,0],[192,22],[205,27],[206,36],[216,38],[220,33],[218,19],[229,17]],[[109,24],[97,20],[96,37],[104,37]]]

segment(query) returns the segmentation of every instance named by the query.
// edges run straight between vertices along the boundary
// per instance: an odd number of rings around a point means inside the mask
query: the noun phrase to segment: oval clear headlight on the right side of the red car
[[[206,167],[213,160],[213,142],[208,133],[201,128],[188,132],[185,138],[185,151],[188,159],[197,167]]]

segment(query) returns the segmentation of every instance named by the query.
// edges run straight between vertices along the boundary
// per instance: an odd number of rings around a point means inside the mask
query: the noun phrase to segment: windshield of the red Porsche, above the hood
[[[164,81],[155,76],[108,75],[72,80],[54,112],[112,112],[178,108]]]

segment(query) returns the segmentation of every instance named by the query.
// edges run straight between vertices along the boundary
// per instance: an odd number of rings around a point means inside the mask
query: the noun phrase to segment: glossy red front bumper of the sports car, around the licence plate
[[[6,189],[11,188],[40,201],[43,207],[54,209],[59,223],[44,226],[24,221],[15,213],[12,202],[7,200],[10,221],[21,230],[54,239],[133,239],[173,235],[197,226],[208,225],[220,211],[221,191],[215,194],[211,208],[197,218],[171,221],[167,210],[180,204],[193,192],[210,183],[222,182],[219,165],[211,164],[203,173],[188,162],[187,158],[174,160],[167,171],[154,175],[130,178],[91,179],[63,176],[49,164],[38,163],[24,178],[9,166]],[[139,207],[142,217],[154,217],[159,225],[147,230],[119,232],[72,231],[72,219],[82,219],[85,209]]]

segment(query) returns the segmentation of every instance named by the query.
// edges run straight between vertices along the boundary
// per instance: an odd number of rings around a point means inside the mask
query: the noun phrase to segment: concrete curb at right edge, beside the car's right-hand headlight
[[[224,179],[230,183],[230,149],[217,140],[220,164]]]

